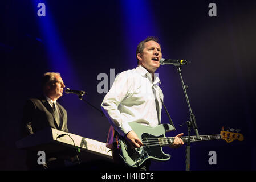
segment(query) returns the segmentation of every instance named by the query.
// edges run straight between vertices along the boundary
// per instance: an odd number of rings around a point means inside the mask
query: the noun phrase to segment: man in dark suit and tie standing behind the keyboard
[[[68,132],[67,111],[58,102],[62,97],[65,85],[60,73],[44,73],[42,78],[43,94],[27,100],[23,108],[22,133],[23,137],[33,134],[46,127]],[[46,165],[37,163],[35,152],[27,151],[27,167],[29,170],[54,169],[64,167],[64,161],[58,156],[46,154]]]

